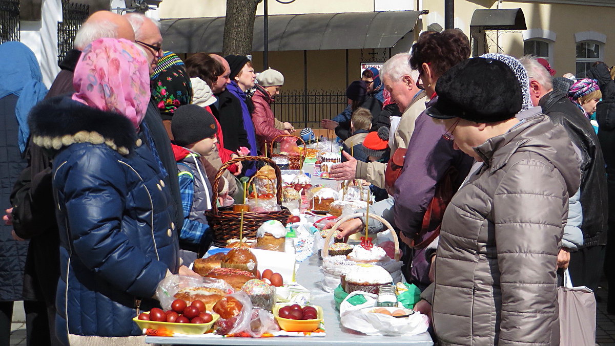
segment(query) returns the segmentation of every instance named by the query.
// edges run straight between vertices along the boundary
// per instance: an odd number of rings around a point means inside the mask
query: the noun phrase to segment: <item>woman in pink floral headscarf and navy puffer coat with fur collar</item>
[[[60,229],[57,334],[65,345],[143,343],[130,320],[159,303],[180,270],[174,205],[141,122],[149,101],[145,53],[124,39],[87,46],[71,97],[30,115],[34,143],[54,154]]]

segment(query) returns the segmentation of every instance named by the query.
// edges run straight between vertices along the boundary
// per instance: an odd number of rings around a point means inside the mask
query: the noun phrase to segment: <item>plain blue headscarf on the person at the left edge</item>
[[[42,83],[41,67],[34,53],[22,42],[0,44],[0,61],[0,98],[11,94],[19,98],[15,116],[19,123],[19,150],[24,152],[30,136],[28,113],[47,95],[47,87]]]

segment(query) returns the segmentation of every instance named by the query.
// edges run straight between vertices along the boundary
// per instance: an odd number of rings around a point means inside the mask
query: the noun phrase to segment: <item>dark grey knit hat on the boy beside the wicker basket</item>
[[[173,140],[178,146],[188,146],[218,132],[216,119],[196,104],[181,106],[171,120]]]

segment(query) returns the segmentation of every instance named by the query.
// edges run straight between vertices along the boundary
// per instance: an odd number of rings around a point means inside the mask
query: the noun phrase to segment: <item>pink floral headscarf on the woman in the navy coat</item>
[[[73,100],[122,114],[138,128],[150,97],[145,53],[126,39],[98,39],[81,54],[73,87]]]

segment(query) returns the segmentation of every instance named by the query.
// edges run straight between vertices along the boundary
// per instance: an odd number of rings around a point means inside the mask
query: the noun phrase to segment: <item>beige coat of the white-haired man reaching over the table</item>
[[[425,110],[426,96],[421,90],[419,94],[412,100],[410,106],[403,111],[402,119],[399,120],[399,127],[394,134],[393,144],[391,146],[391,156],[398,148],[408,147],[410,137],[415,131],[416,118]],[[357,161],[357,179],[365,179],[375,186],[384,189],[384,171],[386,163],[382,162],[362,162]]]

